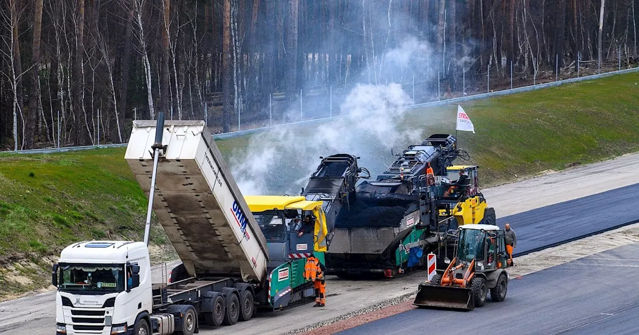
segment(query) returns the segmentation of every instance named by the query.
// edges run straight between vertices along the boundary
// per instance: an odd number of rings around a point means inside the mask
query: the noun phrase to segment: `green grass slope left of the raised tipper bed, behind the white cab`
[[[47,285],[47,257],[72,242],[140,239],[145,211],[123,149],[0,155],[0,299]]]

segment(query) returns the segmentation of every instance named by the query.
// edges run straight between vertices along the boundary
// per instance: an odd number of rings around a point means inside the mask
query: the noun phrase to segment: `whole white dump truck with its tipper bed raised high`
[[[135,121],[125,159],[150,197],[144,242],[84,241],[52,269],[57,334],[193,334],[314,296],[268,243],[203,121]],[[187,278],[151,283],[151,209]],[[296,272],[297,273],[297,272]]]

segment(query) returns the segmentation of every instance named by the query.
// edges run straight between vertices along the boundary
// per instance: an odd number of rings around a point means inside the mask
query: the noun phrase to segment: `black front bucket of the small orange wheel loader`
[[[472,311],[475,308],[475,301],[470,288],[420,284],[413,305]]]

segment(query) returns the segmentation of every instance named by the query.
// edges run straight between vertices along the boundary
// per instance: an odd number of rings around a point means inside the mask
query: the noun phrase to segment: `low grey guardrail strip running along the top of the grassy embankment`
[[[554,82],[547,82],[547,83],[544,83],[544,84],[535,84],[535,85],[531,85],[531,86],[523,86],[523,87],[517,87],[517,88],[512,88],[512,89],[504,89],[502,91],[474,94],[474,95],[471,95],[471,96],[460,96],[459,98],[451,98],[451,99],[447,99],[447,100],[438,100],[438,101],[429,101],[429,102],[426,102],[426,103],[417,103],[415,105],[389,108],[389,109],[386,109],[386,110],[373,110],[371,112],[371,114],[385,112],[387,110],[412,109],[412,108],[422,108],[422,107],[435,107],[435,106],[441,106],[441,105],[449,105],[449,104],[452,104],[452,103],[461,103],[461,102],[465,102],[465,101],[488,99],[488,98],[491,98],[493,96],[505,96],[505,95],[516,94],[516,93],[530,92],[530,91],[535,91],[537,89],[545,89],[545,88],[548,88],[548,87],[562,86],[562,85],[571,84],[571,83],[574,83],[574,82],[582,82],[582,81],[585,81],[585,80],[594,80],[594,79],[599,79],[599,78],[604,78],[604,77],[611,77],[613,75],[621,75],[621,74],[635,73],[635,72],[639,72],[639,67],[637,67],[637,68],[629,68],[629,69],[619,70],[619,71],[606,72],[606,73],[599,73],[599,74],[596,74],[596,75],[589,75],[589,76],[584,76],[584,77],[569,78],[569,79],[564,79],[564,80],[556,80]],[[330,121],[330,120],[334,120],[334,119],[340,119],[340,118],[347,117],[347,116],[348,116],[348,114],[335,115],[335,116],[330,116],[330,117],[321,117],[321,118],[317,118],[317,119],[309,119],[309,120],[304,120],[304,121],[295,121],[295,122],[291,122],[291,123],[274,124],[273,126],[266,126],[266,127],[253,128],[253,129],[240,130],[240,131],[231,131],[229,133],[215,134],[215,135],[213,135],[213,139],[222,140],[222,139],[225,139],[225,138],[239,137],[239,136],[243,136],[243,135],[249,135],[249,134],[252,134],[252,133],[259,133],[259,132],[263,132],[263,131],[269,131],[269,130],[273,130],[273,129],[276,129],[276,128],[282,128],[282,127],[286,127],[286,126],[295,126],[295,125],[300,125],[300,124],[311,124],[311,123],[321,123],[321,122]],[[6,151],[5,153],[51,154],[51,153],[64,153],[64,152],[67,152],[67,151],[79,151],[79,150],[89,150],[89,149],[100,149],[100,148],[106,148],[106,147],[126,147],[126,146],[127,146],[127,144],[84,145],[84,146],[81,146],[81,147],[54,147],[54,148],[45,148],[45,149],[29,149],[29,150],[19,150],[19,151]]]

